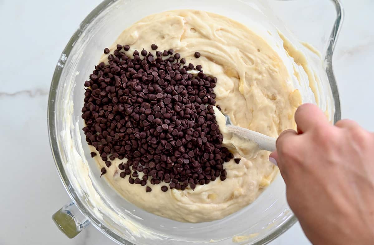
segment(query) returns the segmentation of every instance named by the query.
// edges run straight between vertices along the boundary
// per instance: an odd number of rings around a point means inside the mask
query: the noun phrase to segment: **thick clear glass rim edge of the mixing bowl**
[[[86,30],[88,25],[93,21],[93,19],[96,18],[96,16],[102,12],[105,8],[109,7],[111,4],[116,2],[118,0],[104,0],[102,1],[95,9],[89,13],[89,15],[80,23],[78,30],[71,36],[69,42],[65,46],[65,49],[62,51],[61,57],[64,57],[66,60],[68,56],[71,53],[71,50],[74,48],[74,44],[76,41],[79,39],[80,35]],[[338,94],[338,88],[334,76],[334,71],[332,69],[332,56],[334,53],[335,49],[335,44],[337,42],[338,34],[341,29],[341,24],[343,22],[344,18],[344,11],[342,4],[340,0],[328,0],[332,1],[332,3],[335,6],[336,10],[336,19],[334,22],[334,26],[332,28],[329,42],[327,45],[327,48],[325,50],[325,70],[327,73],[327,77],[330,83],[331,87],[331,92],[332,92],[332,97],[334,98],[334,103],[335,103],[335,114],[334,114],[334,123],[336,123],[338,120],[340,120],[341,117],[341,109],[340,109],[340,98]],[[108,238],[112,239],[115,242],[119,242],[121,244],[125,245],[134,245],[129,241],[126,241],[122,237],[118,236],[116,233],[110,230],[109,227],[105,226],[102,224],[98,219],[95,218],[95,216],[92,214],[92,211],[87,209],[86,206],[83,204],[83,202],[80,201],[77,193],[74,191],[74,187],[71,184],[71,181],[68,178],[67,173],[64,170],[63,167],[63,160],[60,155],[60,149],[58,147],[57,143],[57,135],[59,132],[56,130],[56,117],[55,117],[55,99],[57,95],[57,88],[60,82],[60,77],[62,74],[62,71],[64,67],[62,67],[61,64],[61,59],[58,61],[58,65],[56,65],[55,71],[53,73],[52,77],[52,82],[50,86],[50,91],[49,91],[49,98],[48,98],[48,109],[47,109],[47,123],[48,123],[48,132],[49,132],[49,143],[50,147],[52,150],[52,156],[55,161],[58,173],[60,175],[61,181],[65,186],[65,189],[67,190],[68,194],[70,197],[74,200],[75,204],[79,208],[79,210],[83,213],[83,215],[88,218],[91,223],[102,233],[104,233]],[[289,218],[284,224],[282,224],[278,229],[276,229],[274,232],[270,233],[267,235],[265,238],[261,239],[260,241],[256,242],[253,245],[264,245],[267,244],[274,239],[276,239],[278,236],[282,235],[286,230],[291,228],[295,223],[297,222],[297,218],[295,215],[292,214],[292,217]]]

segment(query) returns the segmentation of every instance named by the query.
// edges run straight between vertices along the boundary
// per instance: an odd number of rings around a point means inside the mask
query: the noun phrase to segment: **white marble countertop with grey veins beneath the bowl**
[[[93,226],[74,239],[51,215],[70,199],[53,162],[47,97],[65,44],[100,0],[0,0],[0,245],[114,244]],[[374,131],[372,0],[343,0],[346,19],[334,55],[342,117]],[[271,245],[310,244],[296,224]]]

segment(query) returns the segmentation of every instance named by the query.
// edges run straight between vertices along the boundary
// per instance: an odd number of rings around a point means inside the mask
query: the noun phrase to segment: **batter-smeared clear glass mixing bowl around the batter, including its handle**
[[[99,178],[97,165],[89,157],[85,138],[81,137],[84,81],[103,48],[111,45],[122,30],[144,16],[172,9],[218,13],[249,25],[261,36],[271,33],[276,37],[277,30],[281,31],[305,53],[315,71],[318,105],[331,122],[340,119],[331,63],[343,17],[339,1],[105,0],[71,37],[52,79],[48,104],[50,145],[62,183],[73,199],[53,215],[53,220],[70,238],[92,223],[120,244],[266,244],[296,222],[279,175],[254,203],[223,220],[180,223],[124,200],[104,178]],[[311,52],[313,49],[299,39],[308,41],[316,50]],[[303,95],[303,102],[312,102],[308,98]]]

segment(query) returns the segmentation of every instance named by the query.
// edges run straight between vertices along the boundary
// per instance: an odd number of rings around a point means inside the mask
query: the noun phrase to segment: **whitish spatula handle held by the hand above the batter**
[[[232,133],[239,137],[248,139],[254,143],[256,143],[261,150],[266,151],[275,151],[275,142],[276,139],[273,137],[269,137],[264,134],[260,134],[259,132],[255,132],[246,128],[240,128],[238,126],[233,125],[226,125],[227,129]]]

